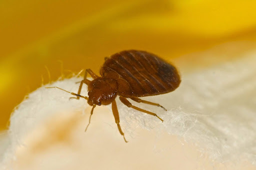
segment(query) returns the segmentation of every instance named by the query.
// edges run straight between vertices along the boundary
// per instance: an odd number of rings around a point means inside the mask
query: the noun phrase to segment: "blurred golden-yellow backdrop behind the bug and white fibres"
[[[246,50],[255,45],[255,6],[254,0],[1,0],[0,129],[41,77],[48,82],[45,66],[56,80],[61,63],[65,74],[97,72],[104,56],[124,49],[176,64],[185,62],[178,59],[184,54],[223,42],[246,41],[240,47]],[[209,64],[193,61],[200,63],[194,67]]]

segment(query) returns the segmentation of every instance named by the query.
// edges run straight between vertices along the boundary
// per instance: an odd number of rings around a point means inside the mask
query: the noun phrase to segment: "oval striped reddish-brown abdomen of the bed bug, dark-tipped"
[[[180,78],[176,68],[145,51],[126,50],[115,53],[108,58],[101,70],[102,77],[121,79],[128,84],[129,91],[124,96],[152,96],[175,90]],[[119,94],[120,95],[120,94]]]

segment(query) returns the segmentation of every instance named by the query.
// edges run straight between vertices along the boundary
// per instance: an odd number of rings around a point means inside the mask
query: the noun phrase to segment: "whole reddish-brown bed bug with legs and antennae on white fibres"
[[[93,78],[92,81],[87,79],[87,73]],[[127,98],[138,103],[158,106],[166,111],[161,105],[141,100],[138,97],[169,93],[180,84],[178,71],[173,65],[152,53],[139,50],[124,50],[110,57],[105,57],[105,62],[100,69],[100,76],[91,69],[86,69],[77,94],[64,91],[75,95],[75,99],[80,97],[86,99],[87,103],[92,106],[89,123],[85,131],[90,124],[90,118],[96,105],[109,105],[111,103],[115,123],[125,142],[127,141],[119,125],[119,114],[115,102],[117,95],[127,107],[153,115],[163,122],[155,113],[133,106]],[[88,97],[80,95],[83,84],[88,86]],[[63,90],[59,87],[47,88]]]

